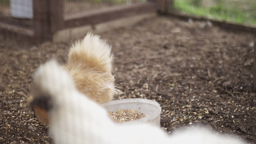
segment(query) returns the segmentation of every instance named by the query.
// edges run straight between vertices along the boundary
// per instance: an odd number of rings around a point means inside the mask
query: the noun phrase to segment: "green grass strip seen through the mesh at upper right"
[[[232,3],[219,1],[208,8],[202,7],[202,0],[174,0],[174,8],[187,14],[204,16],[211,19],[224,20],[239,24],[256,24],[256,3],[248,7],[237,7]],[[230,5],[229,5],[230,4]],[[242,5],[242,4],[241,4]]]

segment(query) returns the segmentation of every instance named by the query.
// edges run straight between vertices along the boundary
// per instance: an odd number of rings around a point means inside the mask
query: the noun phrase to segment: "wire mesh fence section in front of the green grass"
[[[174,0],[172,7],[183,14],[256,25],[255,0]]]

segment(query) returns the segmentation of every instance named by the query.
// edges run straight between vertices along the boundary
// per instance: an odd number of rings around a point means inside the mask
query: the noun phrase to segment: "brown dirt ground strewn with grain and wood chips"
[[[114,54],[115,99],[147,98],[161,108],[169,133],[204,125],[256,144],[253,39],[206,22],[154,17],[100,34]],[[61,64],[73,41],[37,46],[0,37],[0,143],[50,144],[48,127],[25,99],[32,73],[51,58]]]

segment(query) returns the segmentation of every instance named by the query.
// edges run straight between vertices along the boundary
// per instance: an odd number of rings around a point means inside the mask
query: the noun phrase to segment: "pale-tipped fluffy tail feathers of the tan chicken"
[[[111,72],[111,46],[99,36],[88,33],[82,41],[76,42],[69,52],[66,67],[73,69],[93,69],[101,72]]]

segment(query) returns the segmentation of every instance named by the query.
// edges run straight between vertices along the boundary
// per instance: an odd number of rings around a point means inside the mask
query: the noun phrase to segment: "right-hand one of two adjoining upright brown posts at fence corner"
[[[50,32],[64,28],[64,0],[49,0]]]

